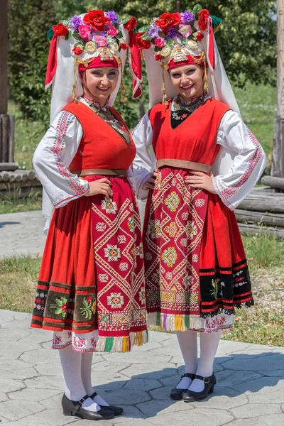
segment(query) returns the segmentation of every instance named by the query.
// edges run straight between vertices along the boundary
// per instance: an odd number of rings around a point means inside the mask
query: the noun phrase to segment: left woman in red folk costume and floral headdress
[[[53,26],[51,124],[33,158],[43,214],[55,211],[31,326],[53,330],[60,349],[63,413],[89,420],[123,412],[94,392],[92,352],[147,342],[141,225],[127,178],[136,148],[111,107],[135,26],[97,10]]]

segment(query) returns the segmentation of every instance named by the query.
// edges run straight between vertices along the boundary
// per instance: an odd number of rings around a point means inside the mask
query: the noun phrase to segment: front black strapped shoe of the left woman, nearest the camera
[[[63,414],[77,415],[86,420],[109,420],[114,417],[114,412],[111,410],[89,411],[86,408],[82,408],[82,403],[87,398],[89,398],[89,395],[85,395],[80,401],[72,401],[64,394],[61,401]]]

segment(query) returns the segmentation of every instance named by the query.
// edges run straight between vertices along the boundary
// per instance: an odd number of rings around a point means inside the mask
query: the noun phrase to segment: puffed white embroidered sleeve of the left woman
[[[87,181],[68,170],[82,135],[77,117],[69,111],[61,111],[33,155],[35,173],[55,208],[82,197],[89,190]]]

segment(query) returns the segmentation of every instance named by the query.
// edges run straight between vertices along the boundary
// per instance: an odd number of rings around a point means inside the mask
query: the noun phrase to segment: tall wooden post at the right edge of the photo
[[[271,175],[284,178],[284,0],[277,0],[277,117]]]

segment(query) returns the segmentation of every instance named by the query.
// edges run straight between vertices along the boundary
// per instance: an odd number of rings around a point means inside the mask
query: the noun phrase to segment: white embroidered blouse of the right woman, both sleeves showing
[[[146,200],[148,190],[142,189],[143,183],[155,170],[152,136],[152,126],[147,113],[132,132],[137,153],[133,161],[131,180],[139,200]],[[231,110],[222,117],[216,143],[222,148],[212,168],[213,185],[224,204],[232,210],[261,177],[266,165],[266,155],[241,116]]]

